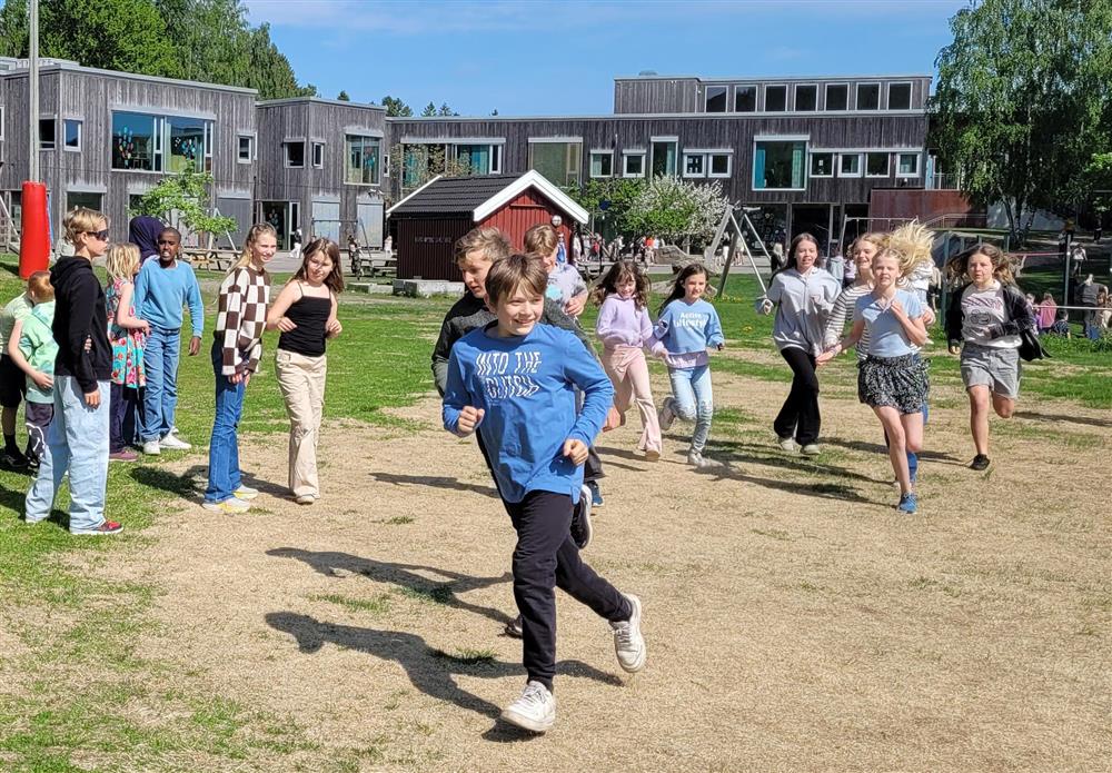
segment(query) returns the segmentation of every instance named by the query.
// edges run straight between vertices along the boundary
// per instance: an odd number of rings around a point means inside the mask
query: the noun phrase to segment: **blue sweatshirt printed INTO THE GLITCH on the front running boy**
[[[503,499],[542,490],[578,502],[583,466],[563,455],[564,442],[594,442],[614,400],[610,379],[568,330],[538,324],[499,338],[496,328],[471,330],[451,348],[444,428],[458,434],[460,412],[481,408],[477,432]],[[584,395],[578,414],[576,387]]]

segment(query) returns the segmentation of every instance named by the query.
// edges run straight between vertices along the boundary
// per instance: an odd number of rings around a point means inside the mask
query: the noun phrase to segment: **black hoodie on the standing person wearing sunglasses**
[[[112,376],[112,349],[108,344],[108,307],[105,289],[88,258],[61,258],[50,269],[54,288],[54,321],[51,329],[58,343],[56,376],[72,376],[89,394],[97,381]],[[86,341],[90,347],[87,351]]]

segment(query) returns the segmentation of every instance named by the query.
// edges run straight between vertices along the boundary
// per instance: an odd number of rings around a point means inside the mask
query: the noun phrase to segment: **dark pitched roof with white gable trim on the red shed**
[[[587,210],[537,171],[523,175],[434,177],[386,210],[387,215],[469,215],[483,220],[513,201],[528,188],[536,188],[573,219],[587,222]]]

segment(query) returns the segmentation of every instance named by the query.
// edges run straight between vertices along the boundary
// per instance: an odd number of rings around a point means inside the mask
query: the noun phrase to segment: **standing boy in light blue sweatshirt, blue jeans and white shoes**
[[[201,348],[205,331],[205,309],[201,289],[193,267],[178,260],[181,234],[163,228],[158,235],[158,260],[147,260],[136,277],[136,315],[150,323],[150,335],[143,348],[147,387],[142,402],[142,450],[160,454],[162,448],[187,450],[188,443],[179,438],[173,427],[178,407],[178,353],[181,350],[181,307],[189,306],[193,335],[189,339],[189,356]]]

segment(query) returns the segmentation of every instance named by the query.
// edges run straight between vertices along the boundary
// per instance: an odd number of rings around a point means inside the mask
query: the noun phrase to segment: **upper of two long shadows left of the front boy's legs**
[[[470,604],[459,598],[458,594],[468,591],[490,587],[500,583],[508,583],[513,576],[509,572],[495,577],[471,577],[470,575],[438,569],[434,566],[420,566],[417,564],[394,564],[373,558],[360,558],[349,553],[335,553],[330,551],[302,551],[297,547],[276,547],[267,551],[268,556],[279,558],[296,558],[311,566],[316,572],[326,577],[338,577],[337,569],[350,574],[359,574],[369,577],[378,583],[389,583],[407,591],[410,595],[444,604],[456,610],[481,615],[496,623],[505,625],[512,617],[498,610],[488,606]],[[425,577],[419,572],[439,575],[444,582],[436,582]]]

